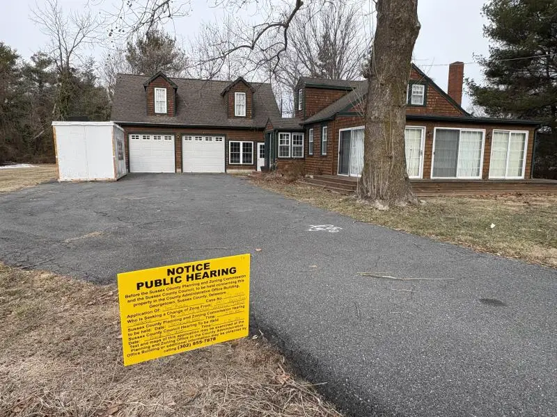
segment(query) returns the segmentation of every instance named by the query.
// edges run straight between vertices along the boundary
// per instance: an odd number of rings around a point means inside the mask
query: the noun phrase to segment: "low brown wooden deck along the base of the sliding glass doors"
[[[338,175],[315,175],[305,178],[311,184],[339,194],[354,193],[357,178]],[[418,197],[435,195],[496,195],[508,193],[557,193],[557,181],[551,179],[462,180],[462,179],[411,179]]]

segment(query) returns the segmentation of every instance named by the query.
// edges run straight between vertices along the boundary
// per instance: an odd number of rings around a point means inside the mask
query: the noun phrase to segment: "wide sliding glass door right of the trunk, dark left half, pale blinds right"
[[[482,177],[485,131],[435,129],[432,178]]]

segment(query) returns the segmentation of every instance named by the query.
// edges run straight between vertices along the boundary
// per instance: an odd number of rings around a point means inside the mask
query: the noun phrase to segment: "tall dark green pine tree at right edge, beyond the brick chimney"
[[[485,85],[466,80],[473,104],[492,117],[541,120],[557,128],[557,0],[491,0],[483,7],[492,42],[480,58]]]

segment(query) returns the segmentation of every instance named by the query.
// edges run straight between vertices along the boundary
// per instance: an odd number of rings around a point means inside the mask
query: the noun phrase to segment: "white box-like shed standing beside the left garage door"
[[[127,174],[124,129],[113,122],[52,122],[58,181],[116,181]]]

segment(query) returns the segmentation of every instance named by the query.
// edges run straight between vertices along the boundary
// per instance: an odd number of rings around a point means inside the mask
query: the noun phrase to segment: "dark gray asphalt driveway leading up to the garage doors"
[[[252,325],[354,416],[557,416],[557,270],[355,222],[226,175],[0,195],[0,260],[13,265],[107,283],[245,252]]]

